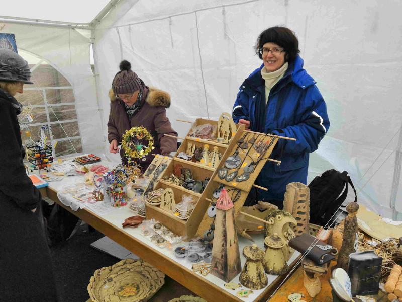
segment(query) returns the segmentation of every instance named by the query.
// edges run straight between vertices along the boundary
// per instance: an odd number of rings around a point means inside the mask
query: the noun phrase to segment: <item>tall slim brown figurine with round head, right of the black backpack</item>
[[[348,215],[345,218],[343,226],[342,247],[339,251],[338,263],[336,264],[336,268],[343,268],[345,271],[348,271],[349,255],[356,252],[354,245],[358,232],[356,217],[358,210],[359,205],[357,202],[349,202],[346,206]]]

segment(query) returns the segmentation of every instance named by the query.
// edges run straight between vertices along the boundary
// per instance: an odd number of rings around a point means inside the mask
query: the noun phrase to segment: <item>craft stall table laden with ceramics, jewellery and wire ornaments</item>
[[[127,140],[129,152],[136,136]],[[379,301],[385,292],[398,297],[396,262],[402,250],[395,238],[402,223],[351,202],[340,224],[320,228],[309,223],[316,210],[310,208],[309,187],[297,183],[287,186],[284,210],[263,203],[258,210],[243,206],[259,159],[275,161],[270,150],[285,137],[245,131],[222,114],[218,121],[197,119],[181,139],[173,158],[155,155],[144,173],[135,164],[115,167],[93,155],[76,159],[95,161],[89,165],[53,164],[53,174],[64,176],[42,174],[50,181],[45,192],[207,301]],[[259,140],[263,147],[254,147]],[[131,155],[134,160],[146,154]],[[255,167],[247,170],[250,163]],[[73,175],[77,172],[82,175]],[[102,280],[96,276],[88,292],[101,301],[104,293],[94,288]],[[384,288],[380,282],[387,277]]]

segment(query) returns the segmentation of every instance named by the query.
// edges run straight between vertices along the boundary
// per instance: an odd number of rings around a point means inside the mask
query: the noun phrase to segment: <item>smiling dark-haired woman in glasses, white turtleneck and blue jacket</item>
[[[283,207],[286,185],[306,184],[309,154],[327,133],[330,122],[324,99],[316,81],[303,69],[298,40],[286,27],[264,30],[255,45],[263,64],[240,86],[233,106],[233,120],[252,131],[293,137],[279,139],[256,184],[257,200]]]

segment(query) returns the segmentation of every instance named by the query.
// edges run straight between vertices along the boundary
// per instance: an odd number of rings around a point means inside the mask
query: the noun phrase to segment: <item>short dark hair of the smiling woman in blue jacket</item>
[[[260,54],[260,48],[265,43],[275,43],[286,51],[285,61],[293,61],[297,54],[300,52],[298,49],[298,40],[295,33],[283,26],[274,26],[264,30],[257,38],[254,49],[258,57],[262,59],[262,54]]]

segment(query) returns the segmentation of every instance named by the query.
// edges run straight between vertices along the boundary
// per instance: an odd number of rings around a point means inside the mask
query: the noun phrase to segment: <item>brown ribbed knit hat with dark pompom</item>
[[[129,61],[123,60],[119,65],[120,71],[116,73],[112,82],[112,89],[115,94],[133,93],[142,88],[142,81],[137,73],[131,70]]]

